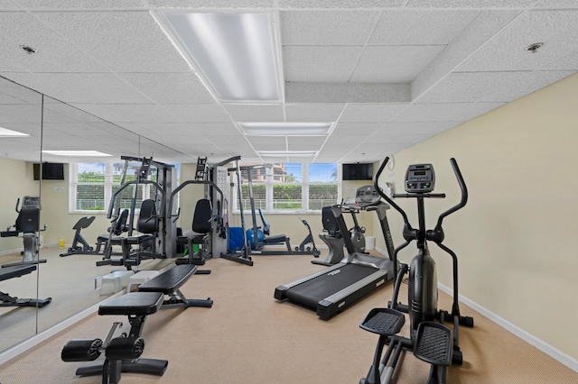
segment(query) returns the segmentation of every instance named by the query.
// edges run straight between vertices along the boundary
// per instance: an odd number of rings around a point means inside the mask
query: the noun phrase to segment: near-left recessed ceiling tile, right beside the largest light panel
[[[363,45],[378,11],[281,12],[283,45]]]

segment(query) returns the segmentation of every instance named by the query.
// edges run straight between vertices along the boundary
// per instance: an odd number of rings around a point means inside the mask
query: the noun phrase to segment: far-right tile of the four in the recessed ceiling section
[[[445,45],[368,46],[353,72],[353,82],[409,83]]]

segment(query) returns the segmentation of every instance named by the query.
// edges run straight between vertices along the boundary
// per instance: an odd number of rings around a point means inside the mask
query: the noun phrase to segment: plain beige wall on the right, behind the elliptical
[[[381,185],[395,182],[403,193],[407,165],[433,163],[435,191],[448,197],[427,202],[431,227],[443,207],[459,199],[449,163],[455,157],[470,199],[445,220],[444,243],[460,258],[461,295],[574,361],[577,106],[578,75],[573,75],[396,153],[395,169],[381,180]],[[409,211],[415,212],[413,206]],[[395,212],[389,217],[398,245],[401,218]],[[383,239],[378,246],[384,247]],[[432,253],[440,282],[452,287],[450,257],[434,245]],[[412,256],[405,252],[402,259]]]

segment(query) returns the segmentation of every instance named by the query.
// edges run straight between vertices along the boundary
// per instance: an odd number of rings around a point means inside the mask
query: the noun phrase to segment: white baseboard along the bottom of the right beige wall
[[[444,286],[443,284],[438,283],[438,288],[440,288],[441,290],[443,290],[443,292],[447,293],[450,296],[453,295],[453,290],[451,288]],[[500,317],[499,315],[490,312],[487,308],[479,306],[478,304],[471,301],[469,298],[458,295],[458,299],[466,306],[470,306],[472,309],[479,312],[481,315],[488,317],[489,320],[506,329],[510,333],[517,335],[517,337],[524,340],[526,343],[535,346],[537,349],[539,349],[542,352],[545,352],[545,354],[552,357],[556,361],[560,361],[566,367],[578,372],[578,360],[574,359],[572,356],[569,356],[566,353],[557,350],[554,346],[545,343],[544,341],[538,339],[533,334],[528,334],[523,329],[517,327],[516,325],[513,325],[512,323],[508,322],[508,320]]]

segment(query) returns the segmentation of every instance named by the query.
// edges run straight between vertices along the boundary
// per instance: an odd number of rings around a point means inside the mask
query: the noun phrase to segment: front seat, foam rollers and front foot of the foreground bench
[[[89,361],[76,370],[79,376],[102,375],[103,383],[117,383],[121,372],[163,376],[169,361],[140,359],[144,352],[144,320],[163,306],[161,292],[132,292],[98,307],[98,315],[127,315],[128,334],[113,338],[122,323],[115,323],[103,342],[101,339],[74,339],[64,345],[62,361]],[[105,352],[104,361],[95,361]]]

